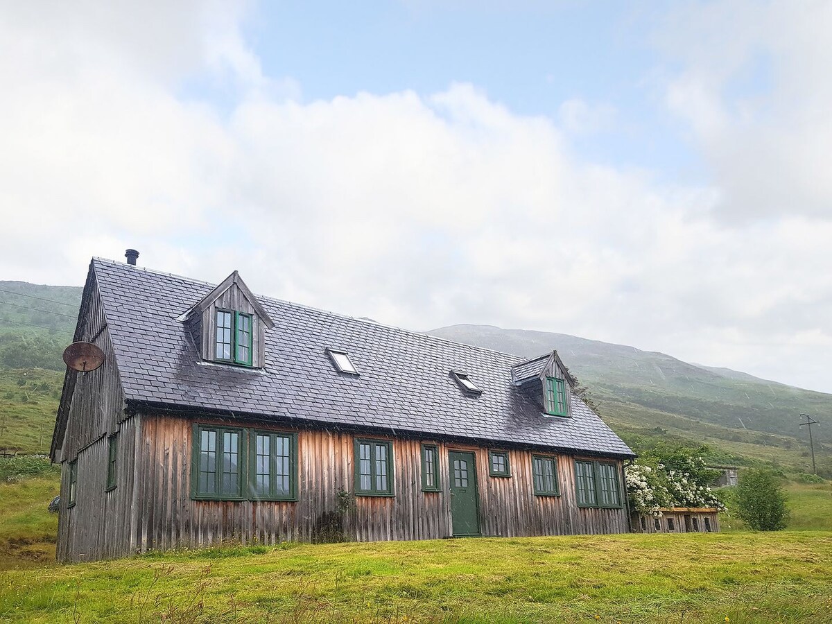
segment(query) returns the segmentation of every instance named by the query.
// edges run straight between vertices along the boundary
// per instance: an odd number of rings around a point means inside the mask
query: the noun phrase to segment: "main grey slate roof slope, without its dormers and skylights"
[[[633,454],[574,395],[572,418],[544,416],[512,383],[515,355],[258,295],[275,322],[265,369],[205,363],[177,317],[213,285],[111,260],[93,259],[91,269],[128,403]],[[359,376],[337,373],[327,347],[348,351]],[[461,391],[452,370],[483,394]]]

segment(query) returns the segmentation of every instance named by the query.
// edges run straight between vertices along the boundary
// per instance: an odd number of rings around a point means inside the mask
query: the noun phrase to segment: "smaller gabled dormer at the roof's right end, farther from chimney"
[[[512,383],[520,386],[548,416],[572,416],[569,393],[576,380],[563,365],[557,351],[515,364]]]

